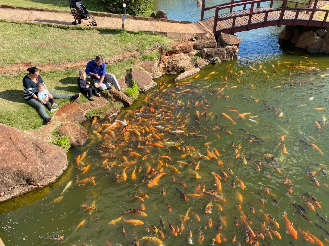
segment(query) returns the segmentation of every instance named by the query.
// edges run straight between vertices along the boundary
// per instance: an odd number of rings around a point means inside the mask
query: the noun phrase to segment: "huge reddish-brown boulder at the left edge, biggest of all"
[[[61,147],[0,124],[0,202],[53,183],[67,168]]]

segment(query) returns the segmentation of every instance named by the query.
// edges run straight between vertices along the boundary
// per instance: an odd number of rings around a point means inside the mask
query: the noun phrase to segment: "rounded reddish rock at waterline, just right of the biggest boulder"
[[[67,136],[74,147],[84,145],[90,140],[86,129],[74,123],[65,123],[58,128],[58,131],[59,136]]]

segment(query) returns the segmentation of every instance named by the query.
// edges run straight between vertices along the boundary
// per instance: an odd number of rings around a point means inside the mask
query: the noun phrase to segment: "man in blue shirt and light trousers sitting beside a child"
[[[115,89],[121,91],[115,75],[106,72],[106,64],[103,62],[103,57],[96,56],[95,60],[89,61],[85,71],[94,81],[95,87],[100,90],[111,89],[112,84]]]

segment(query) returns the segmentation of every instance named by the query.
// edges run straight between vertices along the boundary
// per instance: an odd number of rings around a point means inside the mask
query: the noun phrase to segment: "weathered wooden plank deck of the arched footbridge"
[[[264,10],[269,10],[269,8],[254,8],[254,12],[264,11]],[[238,10],[238,11],[234,11],[234,12],[230,12],[230,13],[220,14],[219,18],[234,16],[234,15],[239,15],[239,14],[245,14],[245,13],[249,13],[249,12],[250,12],[250,9]],[[279,10],[269,12],[267,15],[266,21],[278,21],[280,18],[280,14],[281,14],[281,11],[279,11]],[[295,14],[296,14],[295,12],[286,10],[284,13],[283,19],[284,20],[294,20]],[[251,18],[251,25],[264,23],[264,18],[265,18],[265,13],[253,14],[252,18]],[[211,33],[211,32],[213,32],[214,19],[215,19],[215,17],[210,17],[210,18],[195,22],[195,24],[200,29],[203,28],[204,31]],[[236,21],[235,21],[235,28],[247,26],[248,19],[249,19],[249,16],[237,17]],[[298,20],[309,20],[309,19],[310,19],[310,15],[308,15],[308,14],[300,12],[298,15]],[[313,17],[313,20],[321,21],[321,19],[318,19],[316,17]],[[233,19],[218,21],[216,32],[218,33],[219,31],[222,31],[224,29],[232,28],[232,23],[233,23]]]

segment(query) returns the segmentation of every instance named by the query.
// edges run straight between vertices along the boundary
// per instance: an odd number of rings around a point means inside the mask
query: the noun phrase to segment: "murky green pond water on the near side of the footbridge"
[[[266,221],[259,211],[262,209],[274,217],[280,225],[280,228],[276,229],[282,239],[280,240],[272,234],[273,240],[266,238],[270,245],[291,245],[290,241],[293,245],[311,244],[303,239],[300,232],[298,232],[297,240],[286,233],[285,220],[282,217],[284,211],[287,212],[295,229],[299,227],[305,232],[309,230],[324,245],[328,245],[328,241],[321,236],[327,239],[329,236],[316,227],[315,223],[329,231],[329,226],[316,215],[317,212],[321,217],[327,218],[329,209],[327,185],[329,182],[319,167],[320,164],[327,164],[329,151],[329,129],[325,124],[329,114],[329,76],[325,76],[329,74],[326,69],[329,68],[329,59],[327,55],[307,54],[290,45],[280,45],[278,35],[281,30],[282,28],[271,27],[238,33],[242,42],[238,57],[233,60],[208,65],[202,68],[199,74],[179,82],[173,82],[175,76],[164,76],[156,80],[158,86],[148,91],[147,94],[140,94],[139,99],[131,107],[123,108],[117,116],[111,119],[99,119],[93,126],[91,126],[91,121],[85,122],[83,125],[92,140],[86,146],[70,149],[68,153],[70,164],[58,181],[0,204],[0,237],[4,243],[7,246],[58,244],[71,246],[83,243],[95,246],[109,245],[107,240],[111,245],[124,246],[129,245],[132,241],[136,242],[144,236],[154,236],[151,228],[151,225],[154,225],[164,232],[165,239],[161,239],[163,245],[187,245],[189,229],[192,232],[194,245],[210,245],[212,238],[215,238],[219,232],[221,232],[221,244],[235,245],[236,243],[231,242],[233,232],[235,232],[241,245],[247,245],[241,228],[243,225],[240,219],[241,211],[249,217],[252,222],[249,225],[253,230],[261,230],[260,223]],[[288,50],[294,53],[288,52]],[[195,78],[196,76],[198,77]],[[232,88],[232,86],[237,87]],[[149,112],[148,104],[154,108],[154,112]],[[315,110],[315,108],[324,109]],[[196,111],[200,114],[199,123],[196,122]],[[221,113],[229,115],[236,124],[233,124]],[[233,116],[239,117],[238,115],[242,113],[250,114],[246,114],[245,119],[233,118]],[[250,121],[251,118],[248,116],[257,116],[252,118],[257,123]],[[140,123],[138,123],[139,117],[142,119]],[[130,129],[137,130],[140,135],[129,131],[129,134],[125,135],[127,142],[123,141],[122,129],[117,127],[112,128],[116,140],[106,137],[105,134],[110,136],[110,133],[104,132],[106,126],[102,127],[102,124],[111,124],[115,119],[126,120],[127,124],[131,125]],[[320,124],[323,133],[315,126],[316,121]],[[162,126],[165,130],[156,126]],[[144,130],[146,127],[149,132],[143,133],[141,127]],[[239,129],[244,129],[250,135]],[[170,132],[176,130],[184,133]],[[231,135],[225,130],[231,132]],[[146,138],[151,132],[161,139],[156,138],[155,135]],[[193,137],[190,133],[197,133],[204,137]],[[281,141],[282,135],[286,135],[284,141]],[[218,138],[218,136],[220,137]],[[168,147],[169,154],[164,147],[138,148],[138,143],[143,147],[146,145],[146,141],[161,143],[164,140],[180,142],[179,147],[185,146],[185,153],[176,147]],[[232,142],[234,147],[232,147]],[[106,147],[110,143],[115,148]],[[213,151],[214,147],[218,150],[220,156],[217,157],[217,160],[214,158],[206,160],[199,157],[198,152],[207,156],[208,146],[205,143],[208,144],[210,151]],[[237,149],[240,143],[241,149]],[[188,144],[195,148],[195,151],[190,151],[192,156],[187,155],[186,146]],[[310,146],[311,144],[315,144],[323,154]],[[283,153],[283,145],[288,153]],[[90,164],[90,169],[81,174],[82,171],[76,169],[75,159],[85,151],[87,155],[80,165]],[[141,156],[146,155],[146,158],[142,160],[142,157],[131,154],[129,151],[136,152]],[[236,158],[236,151],[240,153],[239,158]],[[247,160],[247,165],[243,164],[242,153]],[[266,157],[264,153],[273,154],[275,160]],[[159,167],[159,155],[169,156],[172,162],[165,159],[160,160],[175,166],[180,174],[173,171],[171,167],[165,165]],[[119,160],[114,160],[109,156]],[[106,165],[124,162],[122,156],[127,157],[129,161],[137,161],[137,163],[114,166],[110,171],[104,169]],[[252,157],[253,160],[250,161],[249,157]],[[106,159],[109,160],[104,163]],[[196,163],[200,161],[199,169],[196,171],[194,164],[180,166],[177,162],[190,163],[192,159],[195,159]],[[233,175],[223,165],[218,164],[219,160],[232,169]],[[258,160],[262,162],[260,171],[255,166],[255,162],[258,163]],[[173,182],[171,176],[164,175],[160,178],[158,185],[148,187],[147,178],[144,183],[141,181],[147,170],[147,164],[157,170],[163,168],[163,171],[170,173],[176,182]],[[138,172],[140,165],[141,172]],[[116,183],[110,172],[112,175],[117,173],[121,176],[123,168],[127,166],[127,180],[124,181],[120,177],[119,183]],[[135,167],[137,168],[137,179],[132,180],[131,174]],[[281,170],[281,173],[275,170],[276,167]],[[306,171],[308,167],[311,172],[316,172],[315,178],[320,186],[311,182]],[[214,186],[215,179],[212,172],[220,175],[220,171],[226,172],[228,175],[227,181],[220,180],[222,196],[226,202],[214,201],[196,189],[198,184],[204,184],[206,189],[217,190]],[[196,179],[195,172],[201,178]],[[327,170],[324,172],[328,174]],[[70,187],[76,185],[76,173],[79,174],[79,180],[86,179],[89,175],[95,177],[96,184],[86,182],[83,187],[68,189],[61,194],[70,181],[72,181]],[[291,181],[292,193],[289,193],[288,185],[283,183],[285,174]],[[152,176],[152,179],[154,177]],[[245,189],[240,188],[237,177],[244,182]],[[180,184],[178,178],[185,182],[186,187]],[[231,187],[233,180],[236,184],[235,189]],[[268,187],[269,194],[265,192],[263,185]],[[176,188],[185,195],[195,193],[201,196],[188,196],[189,201],[185,201],[180,199]],[[163,189],[166,192],[165,196],[161,194]],[[144,201],[140,202],[127,196],[140,191],[147,194],[149,198],[144,198]],[[241,209],[237,207],[238,192],[243,199]],[[315,211],[313,211],[306,207],[301,198],[302,193],[306,192],[316,198],[321,209],[315,207]],[[265,204],[259,200],[258,193],[264,198]],[[60,196],[63,196],[60,202],[48,205]],[[279,209],[274,206],[271,196],[275,196],[274,198],[280,206]],[[171,206],[171,213],[162,202],[163,199]],[[206,205],[211,201],[212,213],[205,213]],[[304,212],[304,215],[313,222],[312,225],[303,220],[296,209],[290,205],[294,202],[306,209],[307,213]],[[253,205],[255,213],[251,212],[249,203]],[[81,208],[82,205],[92,206],[92,204],[99,209],[99,212],[92,211],[90,214],[89,210]],[[138,219],[143,221],[144,225],[133,226],[125,223],[123,219],[115,225],[109,225],[110,221],[120,217],[127,209],[141,210],[141,204],[146,208],[142,210],[147,214],[146,217],[127,213],[124,215],[124,219]],[[220,211],[215,204],[219,204],[223,211]],[[190,219],[183,221],[184,230],[177,236],[170,234],[167,220],[171,224],[179,226],[182,215],[190,207],[192,207],[189,213]],[[192,211],[198,214],[200,221],[194,218]],[[213,220],[213,226],[211,228],[208,226],[207,230],[204,229],[204,226],[208,224],[206,215]],[[160,216],[164,219],[165,229],[160,226]],[[219,217],[222,218],[221,230],[218,228]],[[233,223],[234,217],[238,219],[238,227]],[[83,220],[85,223],[77,229]],[[145,231],[146,225],[150,228],[150,232]],[[122,226],[125,228],[127,238],[121,234]],[[269,226],[268,222],[266,222],[266,226]],[[271,226],[273,227],[273,225]],[[199,228],[204,234],[203,242],[200,242],[198,237]],[[55,235],[63,235],[65,239],[60,242],[40,239],[40,237],[47,238]],[[266,245],[264,240],[259,239],[258,241],[259,245]],[[215,244],[217,243],[215,242]],[[157,244],[140,240],[139,245]]]

